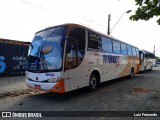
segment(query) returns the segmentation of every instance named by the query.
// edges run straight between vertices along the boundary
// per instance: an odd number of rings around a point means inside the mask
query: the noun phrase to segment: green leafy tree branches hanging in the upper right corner
[[[130,20],[149,20],[154,16],[160,16],[160,0],[135,0],[138,6],[135,15],[130,16]],[[157,23],[160,25],[160,17],[157,18]]]

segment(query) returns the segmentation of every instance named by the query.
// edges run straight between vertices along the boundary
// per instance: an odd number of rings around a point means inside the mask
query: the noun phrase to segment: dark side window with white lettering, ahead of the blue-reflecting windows
[[[101,49],[101,36],[88,31],[88,48]]]

